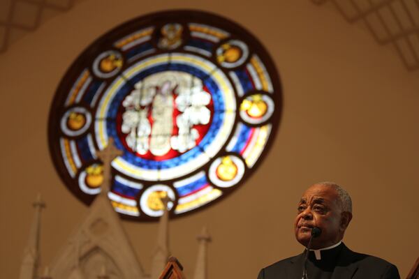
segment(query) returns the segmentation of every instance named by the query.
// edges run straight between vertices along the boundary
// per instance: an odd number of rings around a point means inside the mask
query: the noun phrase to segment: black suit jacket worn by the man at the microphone
[[[349,250],[344,243],[332,279],[399,279],[397,267],[384,259]],[[260,270],[258,279],[302,279],[304,253]]]

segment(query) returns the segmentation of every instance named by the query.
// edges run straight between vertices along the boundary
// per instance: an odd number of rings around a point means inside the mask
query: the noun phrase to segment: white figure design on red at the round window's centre
[[[199,133],[193,126],[210,123],[211,111],[206,107],[210,102],[211,95],[203,90],[203,82],[189,73],[150,75],[135,84],[135,90],[122,103],[126,109],[122,116],[126,144],[142,155],[150,151],[154,156],[163,156],[170,149],[184,153],[196,146]],[[174,123],[175,108],[180,114]],[[174,125],[177,135],[172,135]]]

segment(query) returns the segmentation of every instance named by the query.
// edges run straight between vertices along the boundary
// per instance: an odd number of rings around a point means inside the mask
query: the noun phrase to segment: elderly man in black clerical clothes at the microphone
[[[258,279],[400,278],[393,264],[353,252],[341,242],[352,219],[352,201],[337,184],[314,184],[302,195],[297,210],[295,238],[306,249],[300,255],[265,267]]]

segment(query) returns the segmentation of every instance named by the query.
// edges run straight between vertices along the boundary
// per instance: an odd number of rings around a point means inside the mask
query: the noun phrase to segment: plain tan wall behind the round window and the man
[[[256,278],[261,267],[297,254],[296,202],[310,183],[331,180],[353,196],[346,244],[388,259],[406,276],[419,250],[419,73],[408,73],[391,47],[376,45],[331,5],[309,0],[89,0],[0,56],[0,277],[18,276],[36,193],[47,201],[44,263],[87,212],[64,187],[47,148],[47,115],[65,70],[105,31],[170,8],[212,11],[242,24],[267,47],[284,86],[279,133],[260,169],[222,202],[170,223],[172,252],[186,275],[203,225],[214,239],[212,279]],[[156,224],[124,227],[148,269]]]

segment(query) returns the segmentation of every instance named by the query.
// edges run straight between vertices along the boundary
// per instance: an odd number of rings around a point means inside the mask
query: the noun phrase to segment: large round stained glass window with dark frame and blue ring
[[[89,204],[103,183],[97,152],[112,137],[123,152],[111,163],[115,211],[155,220],[168,197],[171,216],[182,216],[244,182],[280,114],[278,73],[249,32],[210,13],[154,13],[75,60],[52,104],[50,151],[68,189]]]

